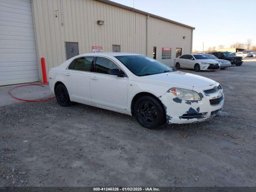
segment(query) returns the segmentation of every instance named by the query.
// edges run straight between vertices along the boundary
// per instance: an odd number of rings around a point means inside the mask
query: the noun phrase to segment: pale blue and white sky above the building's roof
[[[256,45],[256,0],[112,0],[196,29],[193,50],[252,39]],[[134,4],[133,4],[134,2]]]

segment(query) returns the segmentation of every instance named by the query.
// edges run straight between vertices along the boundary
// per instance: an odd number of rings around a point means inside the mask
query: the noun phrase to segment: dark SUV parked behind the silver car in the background
[[[210,54],[213,54],[214,56],[218,57],[219,59],[228,60],[231,62],[231,64],[235,64],[236,66],[241,66],[243,64],[243,57],[236,56],[231,52],[211,52]]]

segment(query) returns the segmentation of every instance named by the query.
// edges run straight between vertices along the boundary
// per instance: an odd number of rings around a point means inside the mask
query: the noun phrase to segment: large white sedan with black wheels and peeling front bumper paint
[[[218,82],[140,54],[75,56],[50,69],[49,85],[61,106],[73,101],[134,115],[151,129],[207,120],[224,102]]]

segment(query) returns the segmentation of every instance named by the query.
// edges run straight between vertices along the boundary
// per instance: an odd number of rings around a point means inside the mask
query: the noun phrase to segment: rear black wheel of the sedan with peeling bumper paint
[[[63,84],[59,84],[55,89],[55,96],[58,104],[63,107],[68,107],[71,105],[68,90]]]

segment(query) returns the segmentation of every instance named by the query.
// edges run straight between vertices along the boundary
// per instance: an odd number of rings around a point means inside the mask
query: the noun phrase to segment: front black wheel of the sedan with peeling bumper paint
[[[159,129],[166,123],[161,103],[152,96],[142,96],[134,104],[136,120],[145,128]]]

